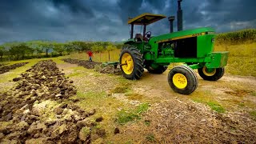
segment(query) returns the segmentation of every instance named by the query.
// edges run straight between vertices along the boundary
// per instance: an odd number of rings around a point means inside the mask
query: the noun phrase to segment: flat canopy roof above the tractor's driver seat
[[[138,15],[135,18],[130,18],[128,20],[128,24],[149,25],[150,23],[157,22],[162,18],[166,18],[166,16],[162,14],[144,13],[144,14]]]

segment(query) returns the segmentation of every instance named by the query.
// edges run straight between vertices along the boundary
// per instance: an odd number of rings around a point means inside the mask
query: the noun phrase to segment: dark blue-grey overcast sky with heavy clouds
[[[0,44],[13,41],[122,41],[128,17],[175,15],[177,0],[0,0]],[[183,0],[183,26],[212,26],[217,32],[256,27],[256,0]],[[175,21],[176,23],[176,21]],[[149,26],[169,31],[167,18]],[[176,26],[176,24],[175,24]],[[136,27],[139,33],[141,26]],[[177,28],[174,27],[176,31]]]

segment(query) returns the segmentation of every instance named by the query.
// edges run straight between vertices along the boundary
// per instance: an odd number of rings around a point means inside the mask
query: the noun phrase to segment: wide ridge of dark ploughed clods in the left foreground
[[[96,123],[88,117],[95,110],[86,112],[66,100],[77,91],[58,70],[55,62],[38,62],[16,80],[18,86],[0,93],[0,142],[91,141],[91,129]]]

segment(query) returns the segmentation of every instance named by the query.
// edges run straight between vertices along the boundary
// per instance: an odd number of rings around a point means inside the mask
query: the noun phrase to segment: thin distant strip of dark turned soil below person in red
[[[101,62],[90,62],[86,60],[79,60],[79,59],[71,59],[71,58],[64,58],[62,59],[64,62],[68,62],[71,64],[77,64],[78,66],[83,66],[86,69],[94,69],[95,65],[100,65]]]

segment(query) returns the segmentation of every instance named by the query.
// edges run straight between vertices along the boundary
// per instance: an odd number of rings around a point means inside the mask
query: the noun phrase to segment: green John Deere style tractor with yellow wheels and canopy
[[[173,62],[183,62],[168,74],[170,87],[179,94],[191,94],[198,86],[193,69],[205,80],[217,81],[224,74],[229,52],[214,52],[214,29],[209,27],[151,36],[146,26],[166,18],[161,14],[141,14],[131,18],[130,39],[122,48],[119,63],[123,77],[139,79],[144,68],[162,74]],[[135,34],[134,25],[143,26],[143,34]]]

